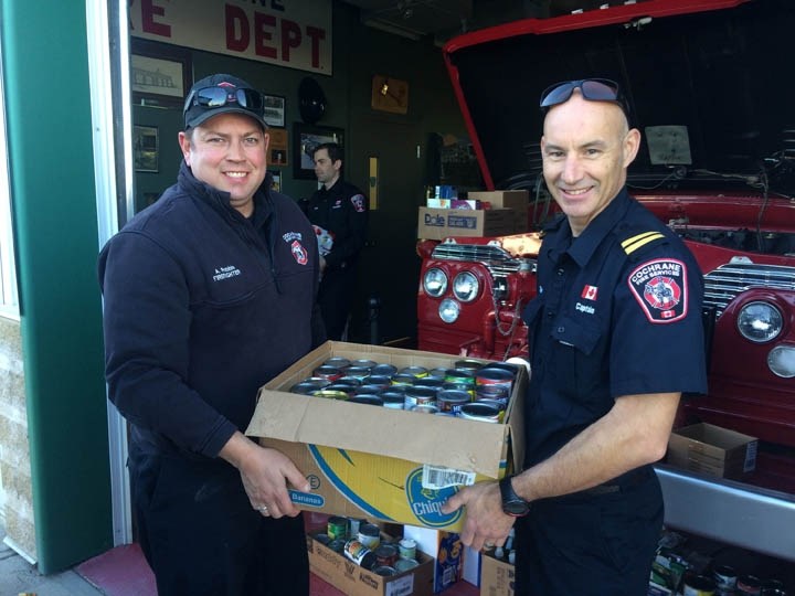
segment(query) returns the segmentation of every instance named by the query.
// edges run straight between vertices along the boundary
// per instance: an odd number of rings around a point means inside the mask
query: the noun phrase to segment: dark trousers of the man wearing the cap
[[[254,511],[225,461],[147,456],[130,464],[130,482],[159,596],[308,596],[303,515]]]

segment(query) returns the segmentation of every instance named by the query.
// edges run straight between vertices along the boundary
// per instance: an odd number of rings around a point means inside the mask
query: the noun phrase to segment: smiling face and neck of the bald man
[[[640,146],[622,109],[583,99],[579,91],[552,107],[541,138],[543,174],[552,196],[579,236],[615,199]]]

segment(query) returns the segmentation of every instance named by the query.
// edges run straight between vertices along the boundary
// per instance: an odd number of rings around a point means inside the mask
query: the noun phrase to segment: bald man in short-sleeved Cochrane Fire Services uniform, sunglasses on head
[[[562,215],[545,228],[523,312],[523,467],[462,489],[444,511],[466,508],[474,549],[516,529],[517,596],[640,596],[662,528],[651,465],[681,394],[707,391],[701,274],[627,192],[640,132],[618,85],[558,83],[540,105],[543,175]]]

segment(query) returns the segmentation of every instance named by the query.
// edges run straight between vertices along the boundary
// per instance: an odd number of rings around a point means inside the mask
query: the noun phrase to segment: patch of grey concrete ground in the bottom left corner
[[[35,565],[18,555],[4,542],[6,530],[0,526],[0,594],[17,596],[97,596],[104,594],[72,570],[41,575]]]

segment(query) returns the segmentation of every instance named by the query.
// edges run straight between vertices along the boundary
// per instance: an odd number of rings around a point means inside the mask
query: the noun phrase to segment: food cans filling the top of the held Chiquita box
[[[518,369],[505,362],[459,360],[425,369],[336,356],[290,392],[424,414],[502,422]]]

